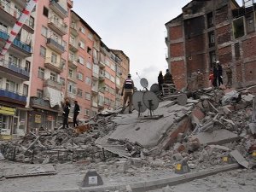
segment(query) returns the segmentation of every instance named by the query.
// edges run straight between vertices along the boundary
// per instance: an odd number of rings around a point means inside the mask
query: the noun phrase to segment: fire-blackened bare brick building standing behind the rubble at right
[[[209,85],[209,71],[215,61],[224,70],[230,65],[233,85],[256,83],[255,4],[242,7],[235,0],[194,0],[183,13],[166,23],[166,61],[177,88],[196,87],[196,72],[201,70],[204,86]],[[226,83],[224,73],[224,84]]]

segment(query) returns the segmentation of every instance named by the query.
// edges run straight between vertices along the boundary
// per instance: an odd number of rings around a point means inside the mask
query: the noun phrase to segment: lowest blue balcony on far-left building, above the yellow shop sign
[[[26,96],[22,96],[15,91],[4,90],[2,88],[0,88],[0,100],[14,102],[22,106],[26,105]]]

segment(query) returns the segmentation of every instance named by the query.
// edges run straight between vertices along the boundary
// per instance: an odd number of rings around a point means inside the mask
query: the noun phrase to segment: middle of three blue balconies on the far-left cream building
[[[15,76],[18,79],[28,81],[29,80],[29,72],[23,68],[23,67],[18,67],[15,64],[11,63],[10,61],[7,60],[0,60],[0,74],[3,73],[8,73],[11,76]]]

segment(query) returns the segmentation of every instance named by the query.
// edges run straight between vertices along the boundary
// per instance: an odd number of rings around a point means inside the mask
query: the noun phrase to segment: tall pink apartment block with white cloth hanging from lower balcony
[[[68,15],[71,1],[38,1],[32,61],[29,130],[62,124],[61,102],[67,97]]]

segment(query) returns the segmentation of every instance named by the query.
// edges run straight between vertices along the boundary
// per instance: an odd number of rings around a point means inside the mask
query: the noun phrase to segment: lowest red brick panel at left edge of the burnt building
[[[182,89],[187,84],[187,73],[184,61],[172,61],[171,73],[177,89]]]

